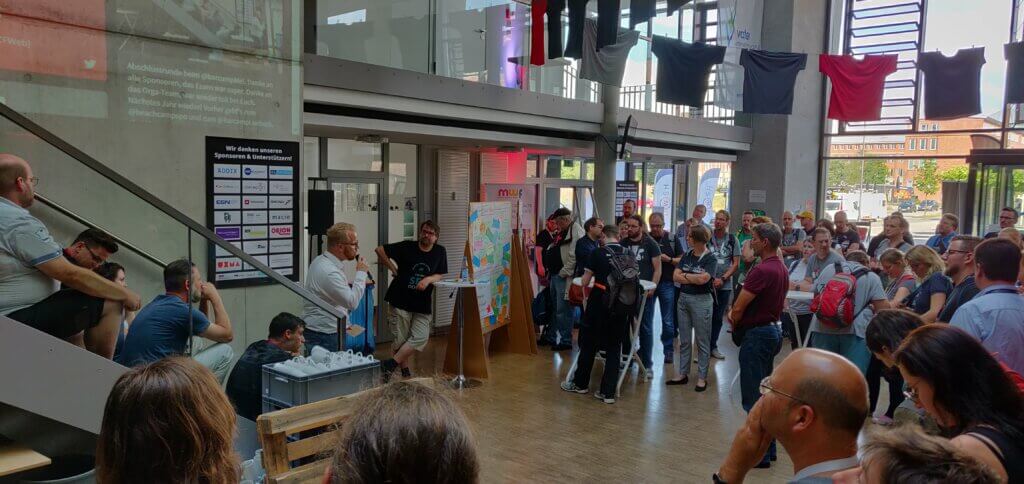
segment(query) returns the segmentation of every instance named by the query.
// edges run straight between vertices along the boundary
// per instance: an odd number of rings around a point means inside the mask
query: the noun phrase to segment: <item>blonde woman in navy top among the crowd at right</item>
[[[920,314],[925,323],[935,322],[953,290],[953,282],[945,274],[946,264],[932,248],[926,246],[910,249],[906,253],[906,263],[918,276],[918,289],[897,303]]]

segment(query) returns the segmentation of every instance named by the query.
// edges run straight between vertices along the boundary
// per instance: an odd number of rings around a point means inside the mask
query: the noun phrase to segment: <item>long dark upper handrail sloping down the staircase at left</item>
[[[130,192],[131,194],[141,199],[143,202],[150,204],[155,209],[163,212],[165,215],[176,220],[178,223],[184,225],[189,230],[198,233],[203,238],[206,238],[207,240],[216,244],[217,247],[223,249],[224,251],[227,251],[229,254],[231,254],[234,257],[238,257],[246,264],[249,264],[250,266],[256,268],[263,274],[265,274],[267,277],[273,279],[274,282],[284,285],[286,289],[288,289],[292,293],[295,293],[300,298],[308,301],[309,303],[312,303],[316,307],[326,311],[328,314],[336,317],[339,321],[344,319],[344,315],[342,315],[341,312],[339,312],[330,304],[326,303],[321,298],[314,296],[305,288],[279,274],[269,266],[263,264],[262,262],[257,261],[249,254],[242,252],[241,249],[234,247],[234,245],[228,243],[227,240],[220,238],[219,236],[217,236],[216,233],[214,233],[209,228],[200,225],[198,222],[196,222],[185,214],[181,213],[174,207],[171,207],[166,202],[160,200],[159,197],[148,192],[141,186],[135,184],[133,181],[125,178],[120,173],[117,173],[116,171],[112,170],[110,167],[103,165],[98,160],[90,157],[85,151],[82,151],[75,145],[66,141],[63,138],[53,134],[46,128],[43,128],[42,126],[36,124],[36,122],[30,120],[20,113],[12,109],[10,106],[8,106],[3,102],[0,102],[0,116],[3,116],[11,123],[14,123],[15,125],[22,127],[22,129],[34,134],[36,137],[42,139],[50,146],[59,149],[65,155],[68,155],[72,159],[78,161],[82,165],[85,165],[86,167],[98,173],[108,180],[111,180],[112,182],[114,182],[114,184],[124,188],[125,190],[128,190],[128,192]],[[189,237],[189,240],[191,238]]]

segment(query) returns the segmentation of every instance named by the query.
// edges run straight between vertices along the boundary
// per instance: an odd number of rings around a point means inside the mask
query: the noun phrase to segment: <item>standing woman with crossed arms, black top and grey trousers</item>
[[[676,322],[679,326],[679,375],[666,385],[686,385],[690,381],[690,358],[697,347],[697,384],[694,390],[708,389],[708,366],[711,359],[711,313],[715,305],[712,276],[718,270],[718,260],[708,250],[711,232],[702,226],[693,227],[686,235],[690,251],[679,260],[672,280],[679,284]],[[695,340],[695,341],[693,341]]]

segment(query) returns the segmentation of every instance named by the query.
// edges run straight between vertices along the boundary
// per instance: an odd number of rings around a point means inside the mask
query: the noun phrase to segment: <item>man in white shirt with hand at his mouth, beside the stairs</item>
[[[351,284],[342,268],[342,262],[356,260],[355,280]],[[327,230],[327,250],[309,264],[306,273],[306,289],[316,297],[327,301],[345,316],[359,306],[362,293],[367,290],[367,273],[370,266],[359,257],[359,237],[355,225],[336,223]],[[322,346],[329,351],[338,351],[338,320],[312,303],[302,308],[302,319],[306,321],[306,352],[313,346]]]

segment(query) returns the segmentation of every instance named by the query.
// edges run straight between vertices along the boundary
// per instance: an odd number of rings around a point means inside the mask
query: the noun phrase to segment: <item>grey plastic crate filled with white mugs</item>
[[[274,369],[273,363],[265,364],[263,365],[263,411],[350,395],[374,388],[380,385],[380,361],[307,377],[294,377]]]

